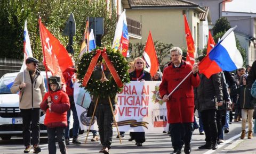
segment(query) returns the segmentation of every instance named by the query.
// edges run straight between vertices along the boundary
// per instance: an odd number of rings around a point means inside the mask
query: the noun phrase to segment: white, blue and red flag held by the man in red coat
[[[207,78],[221,71],[234,71],[243,66],[243,58],[236,48],[234,28],[230,28],[211,52],[199,63],[199,73]]]

